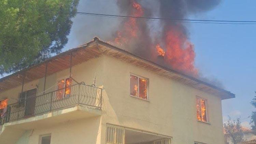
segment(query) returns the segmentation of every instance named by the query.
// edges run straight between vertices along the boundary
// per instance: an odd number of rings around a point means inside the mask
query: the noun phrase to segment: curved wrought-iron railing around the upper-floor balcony
[[[0,125],[77,105],[101,109],[102,88],[86,85],[84,82],[66,88],[71,88],[69,94],[65,94],[63,88],[39,96],[26,97],[24,103],[8,105],[5,116],[0,116]]]

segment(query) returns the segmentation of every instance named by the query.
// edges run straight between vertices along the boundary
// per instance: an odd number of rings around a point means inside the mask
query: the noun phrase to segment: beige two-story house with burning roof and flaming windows
[[[94,38],[0,79],[0,143],[224,144],[230,98]]]

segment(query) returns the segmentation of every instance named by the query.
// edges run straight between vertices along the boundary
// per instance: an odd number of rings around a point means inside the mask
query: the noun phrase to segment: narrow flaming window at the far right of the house
[[[197,108],[197,120],[207,122],[206,100],[197,97],[196,108]]]

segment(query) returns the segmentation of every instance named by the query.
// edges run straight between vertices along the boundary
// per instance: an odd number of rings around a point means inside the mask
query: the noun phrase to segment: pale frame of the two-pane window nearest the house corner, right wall
[[[131,95],[131,78],[130,78],[131,75],[138,77],[138,96]],[[140,98],[140,96],[139,96],[140,95],[140,88],[139,88],[140,87],[139,86],[140,78],[143,78],[147,81],[147,98],[146,99]],[[140,76],[140,75],[137,75],[137,74],[130,73],[129,74],[129,95],[130,95],[130,97],[145,100],[145,101],[149,101],[148,92],[149,92],[149,78],[146,78],[146,77],[143,77],[143,76]]]

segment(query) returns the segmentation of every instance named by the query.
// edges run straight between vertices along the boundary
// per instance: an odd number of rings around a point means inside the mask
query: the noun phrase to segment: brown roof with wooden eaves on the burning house
[[[124,49],[118,48],[109,43],[101,41],[97,37],[95,37],[92,41],[86,44],[70,49],[69,51],[60,53],[41,63],[35,64],[34,66],[25,68],[11,75],[2,77],[0,79],[0,88],[2,88],[2,91],[5,91],[10,88],[22,85],[23,77],[20,75],[26,74],[25,82],[30,82],[44,77],[46,64],[47,75],[56,73],[61,70],[65,70],[70,67],[70,62],[69,60],[67,61],[67,59],[70,59],[71,53],[73,56],[72,66],[88,61],[93,58],[100,57],[101,55],[108,55],[119,60],[134,64],[146,70],[152,71],[159,75],[172,78],[176,81],[179,81],[183,84],[189,85],[196,89],[220,96],[222,99],[230,99],[235,97],[235,95],[229,91],[226,91],[222,88],[218,88],[209,83],[198,80],[195,77],[191,77],[181,72],[175,71],[173,69],[161,66],[155,62],[152,62],[138,55],[125,51]]]

